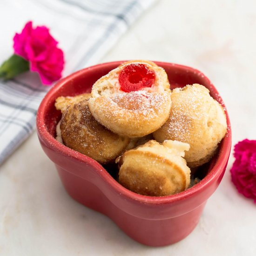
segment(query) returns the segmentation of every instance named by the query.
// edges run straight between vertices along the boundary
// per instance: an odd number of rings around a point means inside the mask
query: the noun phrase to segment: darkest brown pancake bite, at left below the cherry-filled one
[[[67,107],[60,130],[64,145],[101,164],[113,162],[130,142],[128,137],[114,134],[94,119],[88,99]]]

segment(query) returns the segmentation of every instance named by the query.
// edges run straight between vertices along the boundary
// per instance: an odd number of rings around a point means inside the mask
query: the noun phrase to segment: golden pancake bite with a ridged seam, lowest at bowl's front
[[[125,188],[151,196],[173,195],[189,187],[190,169],[184,150],[189,144],[151,140],[126,151],[119,161],[119,182]]]

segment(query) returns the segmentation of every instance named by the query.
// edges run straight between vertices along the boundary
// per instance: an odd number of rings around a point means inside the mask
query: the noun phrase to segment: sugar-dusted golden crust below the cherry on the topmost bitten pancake
[[[167,121],[171,94],[135,91],[101,96],[89,100],[94,118],[116,134],[142,137],[160,128]]]

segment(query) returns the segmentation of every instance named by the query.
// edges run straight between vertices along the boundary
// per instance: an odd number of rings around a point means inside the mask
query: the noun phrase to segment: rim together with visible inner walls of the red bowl
[[[163,67],[168,74],[171,88],[183,87],[187,84],[193,83],[199,83],[208,88],[210,90],[211,96],[216,99],[216,101],[220,102],[220,104],[222,104],[222,107],[224,108],[225,114],[227,116],[228,123],[227,134],[220,143],[218,154],[209,163],[207,175],[202,179],[201,182],[192,188],[175,195],[163,197],[138,195],[122,187],[99,163],[86,155],[82,155],[79,152],[67,148],[54,139],[55,127],[61,118],[61,112],[57,111],[54,107],[55,99],[59,96],[74,96],[77,94],[90,92],[95,81],[97,81],[101,76],[107,74],[113,68],[119,66],[122,62],[123,61],[115,61],[88,67],[57,82],[55,86],[51,88],[51,90],[47,93],[38,109],[37,129],[40,140],[44,141],[47,147],[55,150],[56,152],[59,152],[62,155],[67,155],[68,157],[72,157],[81,162],[89,163],[94,167],[97,173],[100,173],[101,179],[104,179],[104,182],[108,183],[115,193],[118,193],[129,200],[135,200],[136,202],[150,205],[178,203],[183,199],[201,193],[210,185],[216,176],[221,180],[229,159],[231,148],[231,129],[229,116],[216,88],[212,85],[209,79],[204,74],[202,74],[202,72],[191,67],[155,61],[155,63]],[[205,200],[207,200],[207,198],[205,198]]]

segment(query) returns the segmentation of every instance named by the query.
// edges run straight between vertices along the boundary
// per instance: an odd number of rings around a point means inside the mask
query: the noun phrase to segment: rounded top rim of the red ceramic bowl
[[[58,81],[45,95],[44,99],[41,101],[40,106],[38,108],[37,112],[37,118],[36,118],[36,126],[37,126],[37,132],[40,137],[40,139],[47,145],[47,147],[53,149],[56,152],[59,152],[62,155],[67,155],[67,157],[71,157],[73,159],[76,159],[80,162],[87,162],[91,164],[95,171],[98,172],[99,175],[101,175],[101,178],[104,179],[105,182],[108,183],[108,185],[116,191],[119,195],[122,195],[130,200],[135,200],[137,202],[141,203],[147,203],[147,204],[166,204],[166,203],[173,203],[178,202],[181,200],[184,200],[186,198],[191,197],[192,195],[196,195],[198,193],[201,193],[203,190],[208,188],[212,182],[214,182],[222,173],[224,173],[231,149],[231,127],[230,127],[230,120],[229,115],[227,113],[226,107],[222,101],[222,98],[220,97],[218,91],[213,86],[213,84],[209,81],[209,79],[199,70],[187,67],[180,64],[174,64],[169,62],[162,62],[162,61],[154,61],[159,66],[172,66],[172,67],[178,67],[185,72],[194,72],[195,74],[201,75],[204,82],[208,84],[208,88],[211,91],[211,94],[215,95],[214,98],[217,98],[216,100],[222,105],[224,108],[226,117],[227,117],[227,124],[228,124],[228,130],[227,134],[222,140],[222,144],[219,151],[219,156],[216,160],[216,163],[212,170],[205,176],[205,178],[202,179],[199,183],[194,185],[193,187],[182,191],[175,195],[167,195],[167,196],[147,196],[147,195],[139,195],[135,192],[132,192],[126,188],[124,188],[120,183],[118,183],[107,171],[105,168],[103,168],[98,162],[94,161],[92,158],[83,155],[71,148],[66,147],[65,145],[61,144],[59,141],[55,140],[55,138],[50,135],[50,133],[47,130],[47,127],[45,125],[44,117],[46,115],[45,106],[47,106],[47,102],[50,100],[51,95],[54,94],[56,91],[58,91],[67,81],[74,80],[76,77],[79,77],[80,75],[84,74],[85,72],[88,72],[88,70],[92,69],[98,69],[103,66],[109,66],[109,65],[116,65],[119,66],[124,61],[112,61],[112,62],[106,62],[97,64],[91,67],[86,67],[84,69],[81,69],[77,72],[74,72],[73,74],[68,75],[67,77],[61,79]]]

